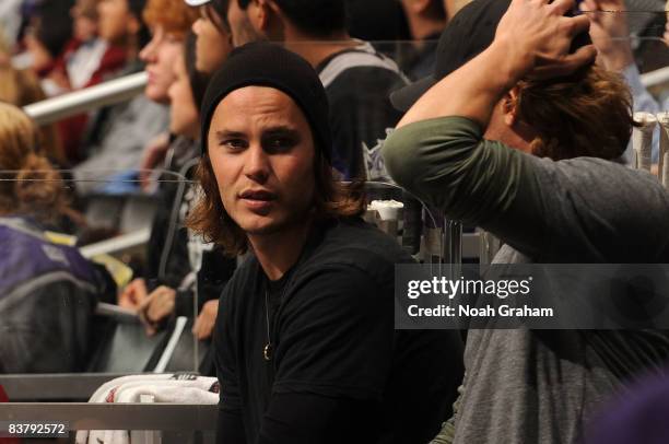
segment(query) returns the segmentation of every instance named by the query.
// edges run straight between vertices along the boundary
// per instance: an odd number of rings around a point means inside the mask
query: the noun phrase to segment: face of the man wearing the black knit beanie
[[[223,207],[247,235],[308,223],[314,138],[286,94],[265,86],[233,91],[214,110],[208,145]]]

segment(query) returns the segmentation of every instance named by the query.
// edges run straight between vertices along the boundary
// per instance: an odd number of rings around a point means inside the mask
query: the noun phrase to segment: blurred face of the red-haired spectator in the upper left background
[[[162,25],[153,28],[151,42],[140,51],[140,59],[146,63],[149,83],[146,97],[159,103],[168,103],[167,90],[174,82],[174,65],[184,50],[184,39],[166,33]]]

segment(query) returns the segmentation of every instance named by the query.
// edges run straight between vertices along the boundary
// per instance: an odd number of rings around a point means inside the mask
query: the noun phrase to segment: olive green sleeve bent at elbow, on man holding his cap
[[[544,209],[533,192],[530,156],[483,140],[473,120],[408,125],[389,136],[383,155],[398,185],[447,217],[481,226],[525,254],[541,244]]]

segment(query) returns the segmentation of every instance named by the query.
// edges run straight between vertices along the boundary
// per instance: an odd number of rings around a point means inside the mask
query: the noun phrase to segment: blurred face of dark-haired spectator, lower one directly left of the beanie
[[[192,97],[184,55],[174,63],[174,82],[169,86],[169,132],[197,139],[199,136],[198,107]]]

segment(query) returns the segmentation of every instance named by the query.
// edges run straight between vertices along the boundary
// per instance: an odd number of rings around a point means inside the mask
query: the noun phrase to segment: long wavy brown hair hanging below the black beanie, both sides
[[[316,190],[312,207],[315,222],[361,215],[365,209],[364,184],[353,182],[344,184],[338,182],[332,166],[316,150],[314,159],[314,175]],[[206,242],[213,242],[228,256],[246,253],[248,241],[246,233],[227,214],[219,186],[211,167],[209,155],[200,159],[196,172],[200,183],[200,199],[186,220],[186,225],[200,234]]]

